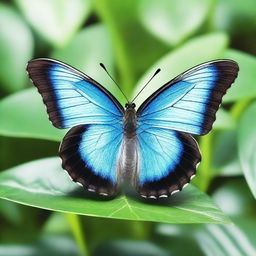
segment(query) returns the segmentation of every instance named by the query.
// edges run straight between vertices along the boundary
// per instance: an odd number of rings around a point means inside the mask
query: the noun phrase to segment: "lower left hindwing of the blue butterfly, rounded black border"
[[[59,155],[62,167],[86,189],[113,195],[119,185],[121,125],[79,125],[64,137]]]

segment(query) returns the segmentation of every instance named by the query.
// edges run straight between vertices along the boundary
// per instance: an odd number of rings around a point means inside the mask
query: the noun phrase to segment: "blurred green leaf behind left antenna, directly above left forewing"
[[[113,49],[103,25],[91,25],[83,29],[67,46],[53,51],[51,58],[63,61],[93,77],[120,100],[123,99],[116,85],[99,65],[101,62],[104,63],[113,74]]]

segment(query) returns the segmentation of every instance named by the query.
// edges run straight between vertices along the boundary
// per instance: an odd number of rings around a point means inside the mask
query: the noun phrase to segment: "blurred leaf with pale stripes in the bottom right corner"
[[[196,240],[206,256],[256,255],[254,219],[234,220],[236,225],[204,225]]]

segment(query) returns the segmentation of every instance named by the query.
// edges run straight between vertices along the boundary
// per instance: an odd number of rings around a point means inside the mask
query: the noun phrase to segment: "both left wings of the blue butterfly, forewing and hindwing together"
[[[53,125],[73,127],[59,150],[63,169],[89,191],[113,195],[119,184],[123,107],[92,78],[59,61],[32,60],[27,71]]]

